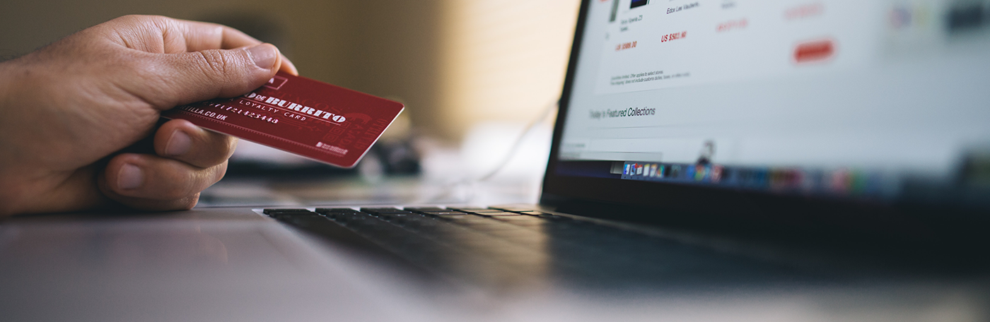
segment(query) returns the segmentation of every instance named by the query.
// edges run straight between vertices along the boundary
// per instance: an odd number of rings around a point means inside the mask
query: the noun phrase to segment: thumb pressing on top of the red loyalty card
[[[234,49],[162,54],[146,82],[146,102],[159,110],[235,97],[261,87],[278,71],[281,54],[271,43]]]

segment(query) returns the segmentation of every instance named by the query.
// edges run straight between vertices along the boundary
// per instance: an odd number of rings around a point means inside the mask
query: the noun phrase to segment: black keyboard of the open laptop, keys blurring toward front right
[[[344,227],[427,271],[487,285],[751,282],[793,275],[768,263],[527,208],[263,212],[318,235],[334,235]]]

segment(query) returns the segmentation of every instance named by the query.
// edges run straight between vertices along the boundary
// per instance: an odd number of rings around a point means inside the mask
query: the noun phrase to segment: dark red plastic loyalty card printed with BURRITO
[[[402,109],[398,102],[278,72],[243,96],[180,106],[161,116],[350,168]]]

